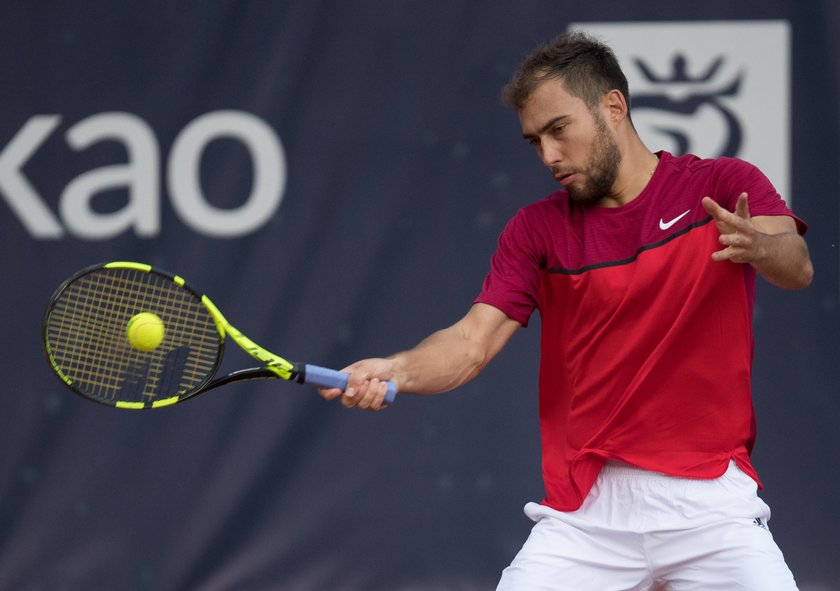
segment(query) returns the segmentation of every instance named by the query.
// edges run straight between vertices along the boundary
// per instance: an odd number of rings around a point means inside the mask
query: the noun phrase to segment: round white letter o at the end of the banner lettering
[[[242,142],[253,162],[251,194],[236,209],[213,207],[201,189],[204,149],[222,137]],[[191,121],[175,138],[167,171],[169,197],[178,217],[217,238],[249,234],[268,222],[286,187],[286,155],[280,139],[265,121],[242,111],[214,111]]]

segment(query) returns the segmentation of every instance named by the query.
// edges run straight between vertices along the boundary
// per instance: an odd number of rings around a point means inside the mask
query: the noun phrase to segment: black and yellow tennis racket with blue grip
[[[155,320],[147,332],[133,326],[141,318]],[[226,337],[262,366],[214,379]],[[142,263],[95,265],[62,283],[44,315],[43,339],[50,367],[67,386],[117,408],[171,406],[241,380],[280,378],[344,390],[349,378],[263,349],[182,277]],[[385,402],[395,396],[388,382]]]

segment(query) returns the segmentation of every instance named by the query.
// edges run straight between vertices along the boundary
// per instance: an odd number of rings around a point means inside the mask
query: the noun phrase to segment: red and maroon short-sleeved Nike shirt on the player
[[[769,180],[738,159],[659,153],[622,207],[584,207],[559,191],[503,231],[483,302],[542,325],[543,501],[580,507],[604,462],[717,478],[730,460],[759,483],[750,392],[755,271],[714,262],[723,248],[700,201],[793,216]]]

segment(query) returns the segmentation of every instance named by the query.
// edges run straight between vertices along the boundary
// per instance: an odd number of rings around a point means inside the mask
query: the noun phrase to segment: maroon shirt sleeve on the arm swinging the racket
[[[475,303],[498,308],[522,326],[528,326],[539,301],[540,271],[545,266],[545,249],[534,230],[525,210],[508,222],[475,299]]]

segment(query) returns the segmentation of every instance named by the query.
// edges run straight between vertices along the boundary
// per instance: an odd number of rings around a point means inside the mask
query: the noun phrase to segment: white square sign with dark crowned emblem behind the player
[[[575,23],[612,47],[631,117],[651,150],[734,156],[788,203],[790,25],[786,21]]]

